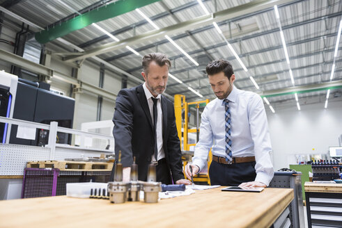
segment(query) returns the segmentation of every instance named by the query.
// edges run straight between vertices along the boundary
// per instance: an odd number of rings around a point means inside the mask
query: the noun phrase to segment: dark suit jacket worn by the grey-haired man
[[[178,179],[184,179],[176,117],[172,102],[163,95],[161,102],[166,164],[171,170],[173,181],[176,182]],[[133,156],[136,156],[138,178],[141,181],[146,181],[148,165],[153,156],[155,136],[142,84],[134,88],[123,89],[118,93],[113,122],[116,159],[121,150],[121,163],[123,163],[123,167],[129,167],[133,163]]]

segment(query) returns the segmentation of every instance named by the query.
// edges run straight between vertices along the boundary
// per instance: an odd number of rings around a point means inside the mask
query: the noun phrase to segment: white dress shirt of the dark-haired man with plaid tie
[[[256,157],[256,179],[267,186],[273,178],[274,170],[270,159],[272,151],[270,133],[263,100],[254,92],[233,90],[226,98],[231,113],[231,136],[233,157]],[[197,142],[192,163],[200,170],[207,162],[210,147],[212,154],[224,157],[225,107],[223,99],[214,99],[205,106],[201,115],[199,142]]]

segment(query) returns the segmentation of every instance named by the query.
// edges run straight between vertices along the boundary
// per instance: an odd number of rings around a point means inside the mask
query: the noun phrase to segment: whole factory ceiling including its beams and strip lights
[[[187,101],[215,98],[205,65],[220,58],[231,61],[237,88],[266,97],[276,111],[342,100],[342,1],[144,0],[138,10],[130,3],[0,0],[0,10],[38,25],[32,33],[65,63],[93,58],[141,80],[142,56],[163,52],[172,62],[166,93]],[[96,14],[115,6],[113,17]],[[84,24],[68,27],[73,20]],[[74,48],[57,48],[58,37]]]

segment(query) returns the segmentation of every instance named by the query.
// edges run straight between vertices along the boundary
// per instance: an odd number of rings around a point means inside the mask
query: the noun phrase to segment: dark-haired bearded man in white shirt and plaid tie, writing
[[[201,115],[199,142],[185,174],[190,179],[192,174],[199,173],[211,148],[209,176],[212,185],[268,186],[274,170],[263,100],[254,92],[233,86],[235,75],[228,61],[212,61],[205,70],[217,98],[205,106]]]

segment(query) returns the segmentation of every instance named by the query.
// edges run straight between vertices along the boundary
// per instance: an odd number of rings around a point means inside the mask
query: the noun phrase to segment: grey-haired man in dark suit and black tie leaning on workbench
[[[130,179],[133,156],[139,180],[146,181],[148,165],[157,165],[157,181],[190,184],[184,179],[173,104],[162,95],[169,78],[170,60],[164,54],[143,57],[145,83],[123,89],[116,98],[114,129],[116,159],[121,151],[123,181]]]

